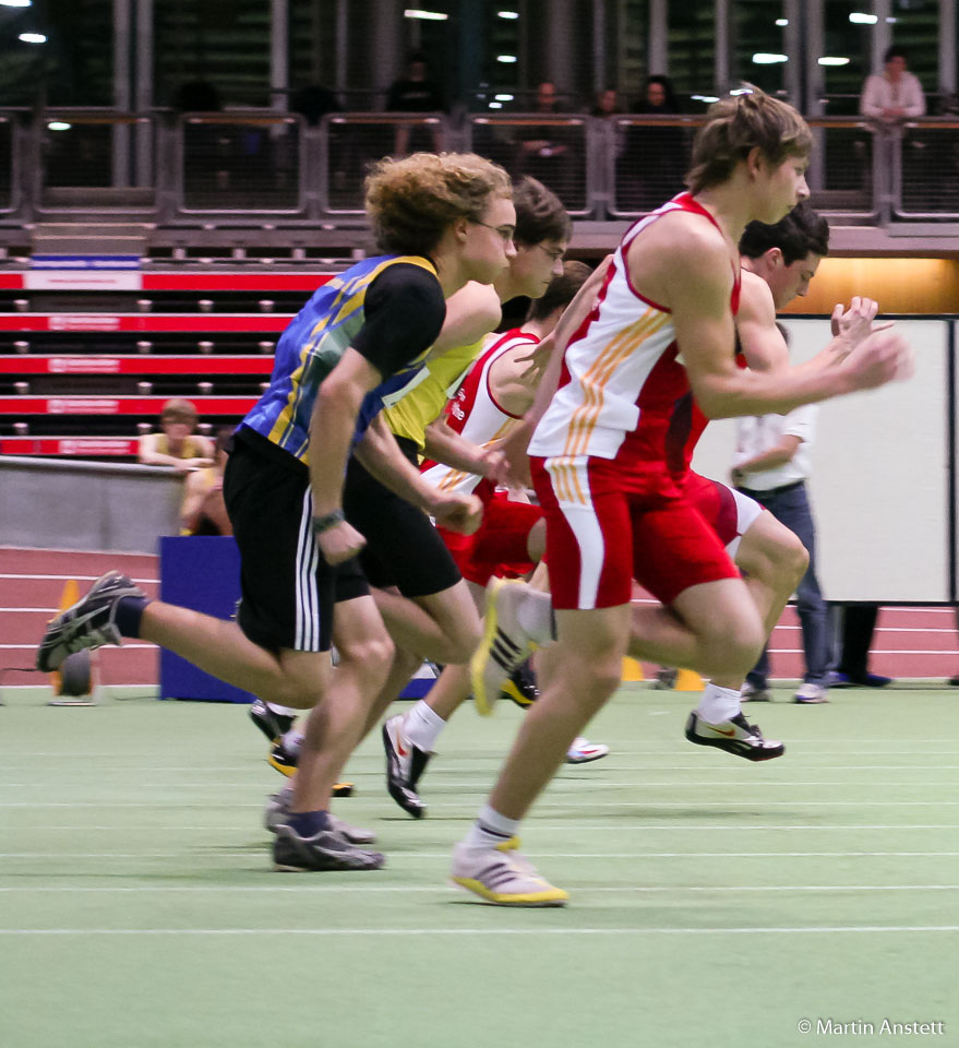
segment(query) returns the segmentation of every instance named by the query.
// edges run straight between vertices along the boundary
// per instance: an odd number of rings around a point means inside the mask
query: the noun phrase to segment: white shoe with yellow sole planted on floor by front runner
[[[565,906],[570,896],[536,872],[532,864],[516,849],[518,837],[494,848],[453,849],[454,884],[496,906]]]

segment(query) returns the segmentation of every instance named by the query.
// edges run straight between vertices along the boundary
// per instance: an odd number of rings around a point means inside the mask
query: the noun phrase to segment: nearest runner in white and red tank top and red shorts
[[[516,854],[516,834],[568,741],[620,684],[633,577],[667,605],[650,610],[662,635],[671,631],[672,665],[741,681],[765,641],[746,584],[670,469],[684,445],[671,431],[676,402],[692,392],[709,418],[790,410],[909,371],[909,347],[892,332],[871,333],[868,310],[807,366],[736,367],[739,239],[750,222],[778,222],[808,195],[811,147],[802,117],[762,92],[715,105],[694,143],[691,194],[627,231],[559,361],[529,446],[556,608],[549,681],[453,858],[454,882],[487,902],[567,900]],[[543,401],[549,392],[544,381]],[[475,691],[551,640],[527,594],[516,583],[488,591]],[[702,731],[714,739],[753,737],[738,690],[710,683],[704,706],[712,713]],[[687,736],[699,731],[697,711]]]

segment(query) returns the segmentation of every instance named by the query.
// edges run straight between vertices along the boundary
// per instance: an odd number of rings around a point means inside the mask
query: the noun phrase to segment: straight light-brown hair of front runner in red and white
[[[736,164],[757,147],[777,165],[788,156],[808,156],[813,135],[792,106],[753,87],[709,107],[693,142],[686,184],[698,193],[727,181]]]

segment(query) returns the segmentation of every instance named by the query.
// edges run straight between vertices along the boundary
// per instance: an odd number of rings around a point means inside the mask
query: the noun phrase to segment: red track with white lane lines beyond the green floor
[[[64,585],[75,579],[83,592],[108,568],[120,568],[156,595],[156,557],[0,547],[0,684],[47,680],[31,668],[34,648],[44,624],[59,607]],[[792,608],[787,608],[776,628],[770,651],[775,677],[802,675],[801,633]],[[952,609],[883,608],[870,668],[896,678],[947,678],[959,672],[959,634]],[[157,650],[140,641],[122,648],[105,647],[100,671],[106,684],[156,684]]]

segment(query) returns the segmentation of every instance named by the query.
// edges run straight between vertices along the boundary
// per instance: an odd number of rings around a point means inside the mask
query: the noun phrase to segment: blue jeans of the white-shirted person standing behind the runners
[[[793,532],[810,555],[810,567],[795,591],[806,662],[803,680],[807,683],[824,684],[831,668],[832,623],[816,580],[816,528],[810,512],[806,486],[801,483],[776,491],[751,491],[748,488],[741,490],[766,507],[777,521]],[[746,675],[746,680],[754,688],[765,688],[768,676],[769,652],[764,648],[759,660]]]

